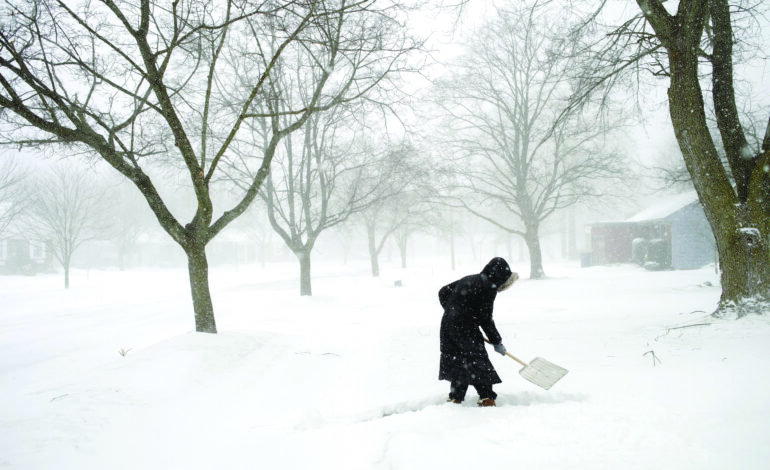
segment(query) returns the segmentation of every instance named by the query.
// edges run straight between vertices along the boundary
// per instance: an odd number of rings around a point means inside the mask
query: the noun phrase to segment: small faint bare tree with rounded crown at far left
[[[65,289],[70,286],[75,251],[106,231],[106,195],[106,187],[91,172],[71,163],[38,176],[28,191],[25,226],[30,235],[51,248],[64,269]]]

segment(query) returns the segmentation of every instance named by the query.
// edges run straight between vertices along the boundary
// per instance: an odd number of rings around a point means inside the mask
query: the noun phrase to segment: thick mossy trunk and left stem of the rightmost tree
[[[719,311],[742,306],[750,298],[770,298],[768,215],[762,209],[762,183],[740,200],[720,161],[705,114],[698,80],[697,47],[688,41],[668,43],[671,86],[669,112],[677,142],[717,244],[722,297]],[[697,44],[696,44],[697,45]],[[755,180],[766,184],[762,169]],[[757,202],[758,201],[758,202]],[[753,300],[749,300],[752,303]]]

